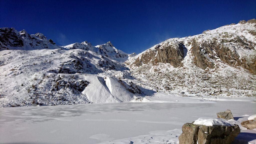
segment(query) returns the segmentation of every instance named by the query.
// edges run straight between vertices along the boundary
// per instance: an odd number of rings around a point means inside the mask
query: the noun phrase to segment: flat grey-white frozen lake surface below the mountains
[[[0,143],[99,143],[181,129],[186,122],[216,118],[216,112],[226,109],[238,120],[255,114],[256,104],[127,102],[0,108]]]

